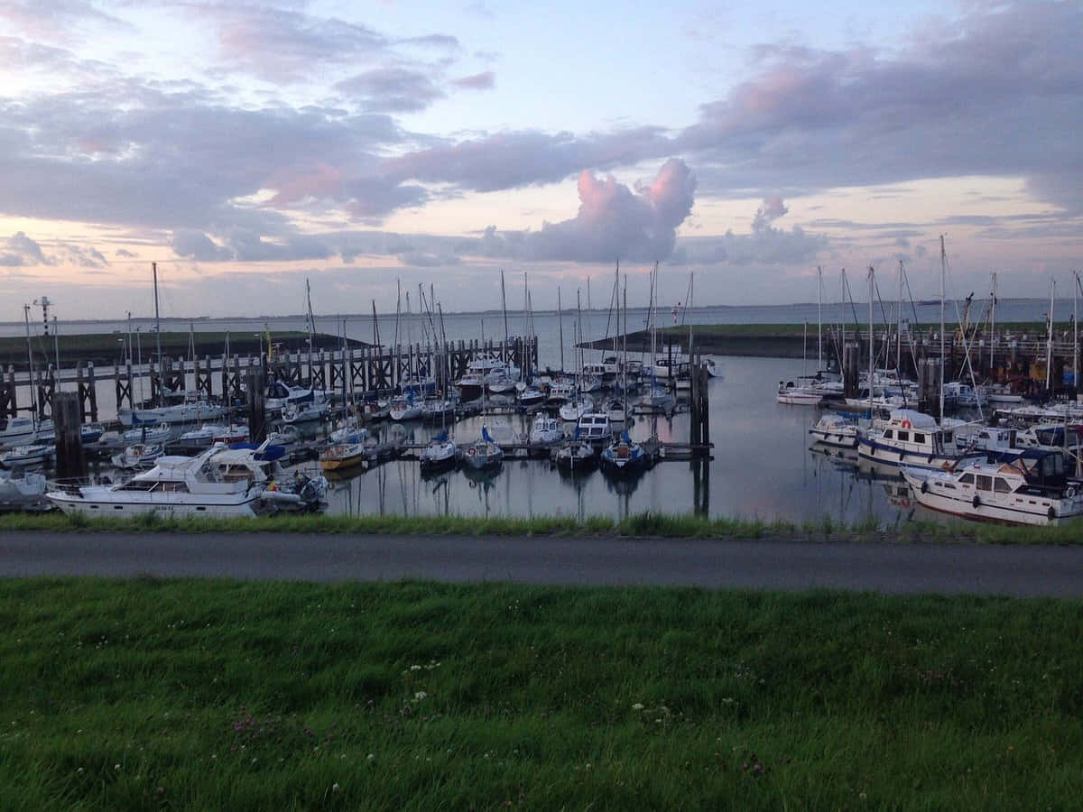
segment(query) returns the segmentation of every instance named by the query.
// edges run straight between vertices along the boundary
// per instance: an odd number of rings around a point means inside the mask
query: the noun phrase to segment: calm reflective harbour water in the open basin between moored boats
[[[808,429],[819,411],[775,403],[778,381],[800,372],[800,362],[722,357],[723,375],[710,382],[710,433],[714,460],[707,475],[687,461],[663,461],[636,480],[616,480],[592,471],[571,476],[547,460],[506,460],[492,475],[451,471],[422,477],[418,466],[392,461],[349,480],[332,482],[330,510],[340,513],[407,515],[590,515],[625,516],[644,510],[713,516],[832,519],[854,523],[874,515],[883,522],[904,516],[885,484],[854,464],[808,449]],[[510,418],[517,430],[525,418]],[[480,433],[480,418],[459,422],[455,436]],[[688,442],[689,416],[637,418],[629,433]],[[439,431],[434,430],[434,431]],[[423,442],[433,433],[415,429]]]

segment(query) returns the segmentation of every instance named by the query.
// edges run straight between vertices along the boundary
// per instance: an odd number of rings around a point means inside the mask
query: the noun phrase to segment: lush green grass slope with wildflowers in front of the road
[[[1078,602],[0,585],[5,809],[1068,809]]]

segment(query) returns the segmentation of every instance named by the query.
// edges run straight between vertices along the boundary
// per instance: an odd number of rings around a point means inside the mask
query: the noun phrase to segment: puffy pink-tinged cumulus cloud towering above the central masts
[[[612,176],[584,170],[578,192],[579,211],[572,220],[506,235],[490,227],[461,249],[531,261],[664,260],[674,249],[678,226],[692,211],[695,176],[684,161],[670,158],[650,184],[635,191]]]

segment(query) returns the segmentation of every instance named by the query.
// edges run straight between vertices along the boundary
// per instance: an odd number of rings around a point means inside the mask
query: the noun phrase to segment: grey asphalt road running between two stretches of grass
[[[0,533],[0,575],[520,581],[1083,595],[1083,546],[550,536]]]

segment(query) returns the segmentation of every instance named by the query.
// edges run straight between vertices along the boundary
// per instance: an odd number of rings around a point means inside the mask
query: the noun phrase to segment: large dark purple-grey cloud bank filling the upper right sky
[[[1077,206],[1083,178],[1064,133],[1083,126],[1083,6],[964,8],[890,54],[765,47],[753,78],[704,105],[678,146],[721,194],[1022,174]]]

